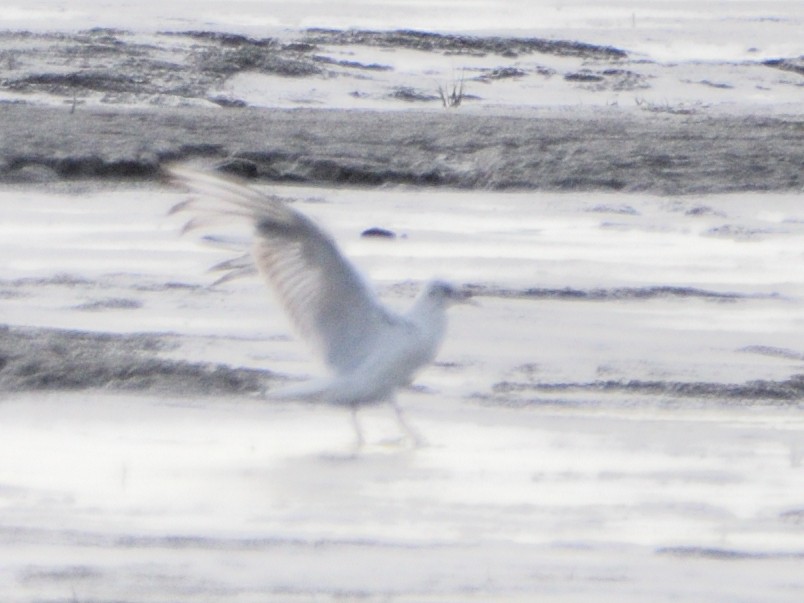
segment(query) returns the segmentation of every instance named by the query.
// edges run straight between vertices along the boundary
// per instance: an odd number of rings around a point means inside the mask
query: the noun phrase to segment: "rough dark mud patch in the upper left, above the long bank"
[[[6,58],[0,89],[44,93],[73,104],[91,93],[109,104],[175,104],[205,99],[211,88],[243,71],[287,77],[322,72],[310,50],[298,45],[213,32],[160,34],[150,43],[104,28],[7,32],[0,33],[0,44]]]

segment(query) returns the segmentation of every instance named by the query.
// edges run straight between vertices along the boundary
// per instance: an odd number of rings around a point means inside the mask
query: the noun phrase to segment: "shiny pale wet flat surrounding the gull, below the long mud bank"
[[[181,194],[81,187],[0,193],[10,328],[317,374],[261,282],[208,287],[232,252],[178,236]],[[369,409],[355,457],[340,409],[170,372],[6,391],[4,600],[797,600],[800,196],[277,190],[389,304],[476,287],[401,396],[429,445]],[[2,341],[0,376],[26,353]]]

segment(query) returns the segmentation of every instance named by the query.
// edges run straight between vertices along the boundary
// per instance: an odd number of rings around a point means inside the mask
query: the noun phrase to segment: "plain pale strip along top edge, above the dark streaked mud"
[[[0,8],[9,30],[417,29],[574,39],[674,62],[799,56],[802,25],[798,0],[7,0]]]

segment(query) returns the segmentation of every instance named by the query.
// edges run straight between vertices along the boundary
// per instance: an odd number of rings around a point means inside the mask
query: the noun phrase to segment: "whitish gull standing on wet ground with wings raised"
[[[420,445],[396,392],[435,359],[444,340],[447,308],[469,301],[469,293],[433,280],[406,313],[394,312],[380,302],[329,234],[278,197],[208,172],[177,166],[168,172],[195,194],[172,210],[197,211],[185,230],[206,225],[205,217],[251,222],[253,263],[296,331],[329,368],[326,377],[269,396],[349,408],[357,448],[364,444],[357,410],[389,403],[402,432]],[[242,258],[221,266],[234,276],[253,271]]]

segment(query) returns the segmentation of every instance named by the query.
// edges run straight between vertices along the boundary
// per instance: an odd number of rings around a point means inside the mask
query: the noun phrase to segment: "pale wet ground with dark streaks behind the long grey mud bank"
[[[91,39],[77,42],[56,35],[93,27],[103,28],[96,32],[94,44]],[[570,40],[612,47],[627,56],[506,51],[506,44],[497,51],[459,45],[439,50],[388,41],[344,44],[315,39],[306,32],[312,27],[412,29],[504,41]],[[794,0],[631,1],[606,3],[605,8],[563,0],[331,6],[181,0],[121,6],[12,0],[0,8],[0,32],[27,31],[45,37],[0,36],[0,100],[190,104],[192,89],[203,81],[194,74],[201,65],[213,71],[205,74],[207,78],[241,67],[225,78],[213,77],[216,81],[205,89],[202,104],[440,108],[439,87],[446,92],[462,87],[465,110],[605,106],[798,114],[804,77],[802,30],[804,5]],[[304,59],[307,72],[288,77],[288,63],[282,69],[275,63],[261,64],[254,60],[254,48],[238,53],[231,44],[221,48],[209,39],[175,35],[199,31],[285,42],[283,60],[301,64]],[[150,71],[143,73],[149,62]],[[188,81],[181,81],[182,72],[192,74]],[[58,76],[72,73],[84,79],[57,81]],[[39,79],[32,80],[32,75]],[[100,81],[86,81],[100,76]],[[131,83],[137,85],[130,89]]]

